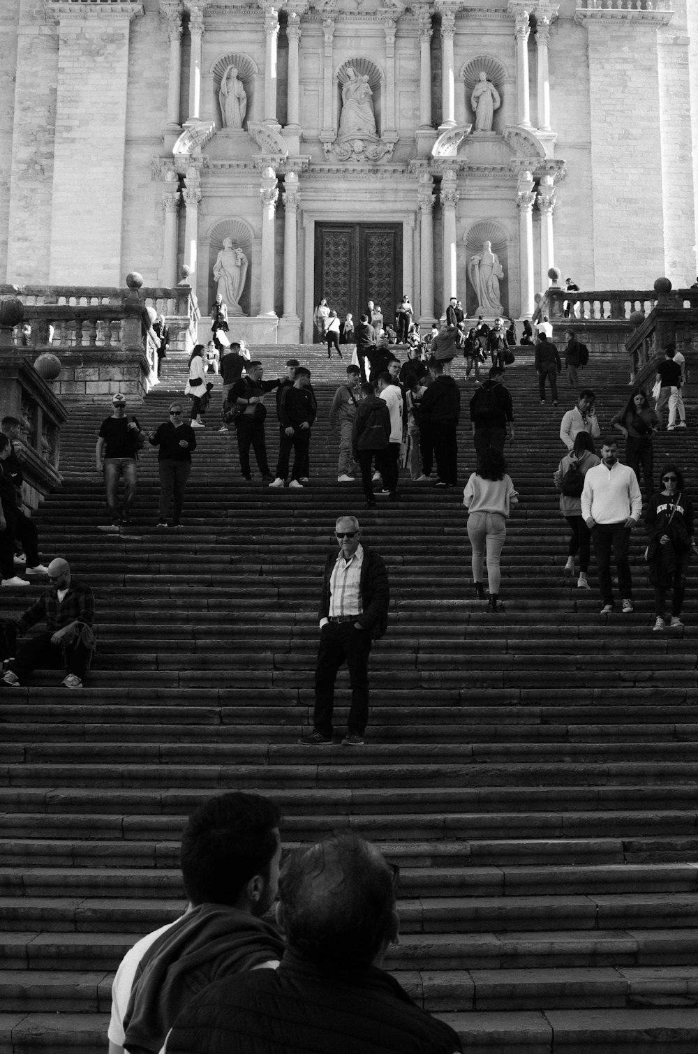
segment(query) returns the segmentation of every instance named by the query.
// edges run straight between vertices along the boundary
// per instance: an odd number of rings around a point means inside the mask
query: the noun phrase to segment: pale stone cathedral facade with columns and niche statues
[[[693,0],[3,0],[7,282],[216,293],[253,340],[696,275]]]

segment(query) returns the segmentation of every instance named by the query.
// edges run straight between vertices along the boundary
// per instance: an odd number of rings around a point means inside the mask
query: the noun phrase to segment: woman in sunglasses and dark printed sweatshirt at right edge
[[[676,465],[664,467],[662,489],[653,494],[644,514],[649,535],[647,563],[649,583],[655,589],[655,630],[666,627],[664,604],[666,590],[672,596],[672,629],[682,629],[681,609],[685,593],[686,570],[691,552],[696,552],[693,534],[693,502],[686,494],[683,473]]]

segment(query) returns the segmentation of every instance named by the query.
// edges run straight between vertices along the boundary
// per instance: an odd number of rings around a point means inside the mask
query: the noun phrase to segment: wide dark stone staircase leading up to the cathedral
[[[313,372],[311,483],[300,493],[240,479],[214,378],[180,532],[155,528],[152,448],[133,527],[97,529],[94,445],[109,410],[71,407],[65,484],[41,509],[40,539],[94,586],[99,651],[80,692],[46,671],[0,697],[0,1052],[105,1050],[119,958],[182,911],[186,816],[246,788],[279,801],[287,846],[351,826],[400,864],[387,965],[465,1050],[695,1054],[695,590],[683,633],[652,632],[641,531],[634,614],[601,619],[596,588],[563,579],[551,476],[574,396],[563,385],[560,407],[539,406],[530,357],[508,371],[521,504],[505,610],[491,616],[472,600],[461,490],[403,480],[403,502],[364,512],[358,483],[336,483],[327,425],[346,364],[317,346],[258,351],[268,377],[290,353]],[[167,419],[185,367],[167,360],[136,410],[147,428]],[[454,375],[466,407],[461,362]],[[585,373],[602,427],[624,376],[602,353]],[[696,480],[693,435],[658,436],[657,468],[672,457]],[[273,469],[273,409],[267,440]],[[463,483],[472,467],[464,413]],[[313,750],[296,739],[312,715],[319,568],[335,516],[355,509],[388,564],[390,627],[371,659],[366,746]],[[19,614],[38,588],[3,590],[0,613]],[[346,689],[342,675],[340,721]]]

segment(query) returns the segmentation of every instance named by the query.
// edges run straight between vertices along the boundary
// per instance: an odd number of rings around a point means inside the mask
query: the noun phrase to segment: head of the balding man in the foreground
[[[288,945],[311,962],[368,967],[392,935],[393,873],[354,833],[296,850],[278,893]]]

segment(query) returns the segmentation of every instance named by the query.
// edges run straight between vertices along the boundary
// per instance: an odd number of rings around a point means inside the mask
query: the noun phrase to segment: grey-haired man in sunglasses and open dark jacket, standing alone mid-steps
[[[390,588],[383,559],[361,544],[355,516],[340,516],[334,533],[340,552],[331,552],[325,561],[318,610],[313,730],[298,740],[307,746],[333,742],[334,682],[345,662],[351,705],[342,745],[363,745],[368,723],[368,657],[372,642],[383,637],[388,626]]]

